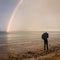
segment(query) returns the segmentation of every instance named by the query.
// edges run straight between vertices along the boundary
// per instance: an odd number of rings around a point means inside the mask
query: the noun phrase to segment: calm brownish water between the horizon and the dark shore
[[[36,47],[43,48],[41,35],[44,31],[0,32],[1,51],[25,51]],[[48,31],[49,46],[60,44],[60,32]]]

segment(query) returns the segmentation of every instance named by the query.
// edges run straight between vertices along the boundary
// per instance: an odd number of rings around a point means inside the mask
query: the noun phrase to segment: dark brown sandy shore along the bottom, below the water
[[[49,51],[32,50],[24,53],[14,51],[0,52],[1,60],[60,60],[60,44],[49,48]]]

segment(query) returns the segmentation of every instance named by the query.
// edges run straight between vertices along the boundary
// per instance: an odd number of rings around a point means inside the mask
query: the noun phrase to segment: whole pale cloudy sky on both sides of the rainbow
[[[8,29],[12,12],[19,1],[0,0],[0,31]],[[9,31],[45,30],[60,30],[60,0],[23,0],[12,19]]]

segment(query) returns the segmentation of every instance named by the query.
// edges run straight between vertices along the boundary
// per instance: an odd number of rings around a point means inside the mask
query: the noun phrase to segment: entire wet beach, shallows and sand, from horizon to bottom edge
[[[0,35],[1,60],[59,60],[60,32],[49,32],[49,50],[44,51],[43,32],[4,33]]]

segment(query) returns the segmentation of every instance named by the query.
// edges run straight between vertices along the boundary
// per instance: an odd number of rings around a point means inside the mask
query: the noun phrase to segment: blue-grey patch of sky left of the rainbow
[[[18,0],[0,0],[0,31],[5,31]]]

